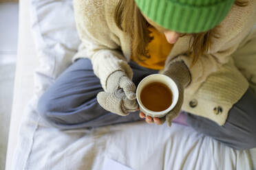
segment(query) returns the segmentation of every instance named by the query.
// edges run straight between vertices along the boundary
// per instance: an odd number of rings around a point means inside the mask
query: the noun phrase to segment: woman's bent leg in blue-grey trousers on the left
[[[133,82],[136,86],[143,77],[157,73],[135,63],[129,64],[134,71]],[[103,109],[96,99],[102,90],[91,61],[81,58],[45,91],[39,99],[37,110],[43,119],[59,129],[99,127],[140,120],[138,112],[121,117]]]

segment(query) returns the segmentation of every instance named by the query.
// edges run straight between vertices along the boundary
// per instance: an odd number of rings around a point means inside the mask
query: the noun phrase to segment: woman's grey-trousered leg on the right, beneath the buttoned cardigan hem
[[[256,147],[256,94],[252,88],[228,112],[226,123],[217,123],[186,113],[186,123],[198,132],[211,136],[235,149]]]

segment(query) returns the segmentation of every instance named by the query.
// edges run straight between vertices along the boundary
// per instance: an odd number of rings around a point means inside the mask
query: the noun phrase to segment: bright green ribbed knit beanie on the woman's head
[[[135,0],[158,25],[180,33],[205,32],[218,25],[235,0]]]

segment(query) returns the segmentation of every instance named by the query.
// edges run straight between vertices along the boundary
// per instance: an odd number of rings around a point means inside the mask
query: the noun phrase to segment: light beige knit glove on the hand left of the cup
[[[97,95],[98,104],[120,116],[138,110],[136,86],[125,72],[116,71],[107,78],[107,90]]]

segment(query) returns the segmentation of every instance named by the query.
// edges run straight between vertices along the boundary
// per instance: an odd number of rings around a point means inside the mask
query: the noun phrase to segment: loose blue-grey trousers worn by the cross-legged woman
[[[138,83],[156,70],[129,62],[134,71],[133,82]],[[138,112],[126,117],[108,112],[97,102],[96,95],[102,91],[100,80],[94,75],[88,59],[78,59],[67,68],[39,99],[37,109],[47,123],[61,130],[99,127],[116,123],[141,120]],[[186,122],[195,130],[236,149],[256,147],[256,95],[250,88],[230,110],[223,126],[186,113]]]

